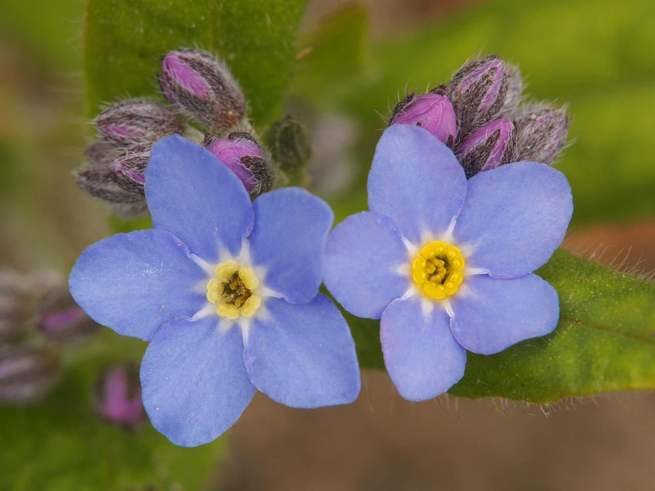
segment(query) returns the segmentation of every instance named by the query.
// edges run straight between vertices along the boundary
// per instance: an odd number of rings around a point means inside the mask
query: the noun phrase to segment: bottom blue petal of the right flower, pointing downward
[[[394,300],[380,321],[386,371],[410,401],[447,391],[462,378],[466,365],[466,350],[453,338],[446,312],[436,306],[424,313],[421,300]]]

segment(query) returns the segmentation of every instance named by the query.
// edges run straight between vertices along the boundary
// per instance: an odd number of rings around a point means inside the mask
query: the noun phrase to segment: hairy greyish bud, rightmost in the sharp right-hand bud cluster
[[[517,160],[551,165],[567,141],[569,118],[566,107],[555,109],[527,104],[516,112]]]

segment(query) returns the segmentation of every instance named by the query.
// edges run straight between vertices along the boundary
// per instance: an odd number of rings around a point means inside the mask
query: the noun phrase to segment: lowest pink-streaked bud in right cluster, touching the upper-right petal
[[[455,154],[466,172],[466,177],[472,177],[478,172],[512,162],[515,151],[514,122],[498,118],[464,137]]]

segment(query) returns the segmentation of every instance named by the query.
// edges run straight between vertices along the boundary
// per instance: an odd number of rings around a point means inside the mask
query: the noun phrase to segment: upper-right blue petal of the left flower
[[[289,302],[309,302],[321,283],[331,208],[310,192],[289,187],[261,194],[253,209],[248,240],[253,263],[266,268],[266,286]]]

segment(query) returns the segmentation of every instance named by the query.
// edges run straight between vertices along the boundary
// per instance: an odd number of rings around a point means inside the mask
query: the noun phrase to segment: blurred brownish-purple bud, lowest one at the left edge
[[[0,346],[0,400],[25,403],[42,397],[57,380],[59,363],[47,350]]]

